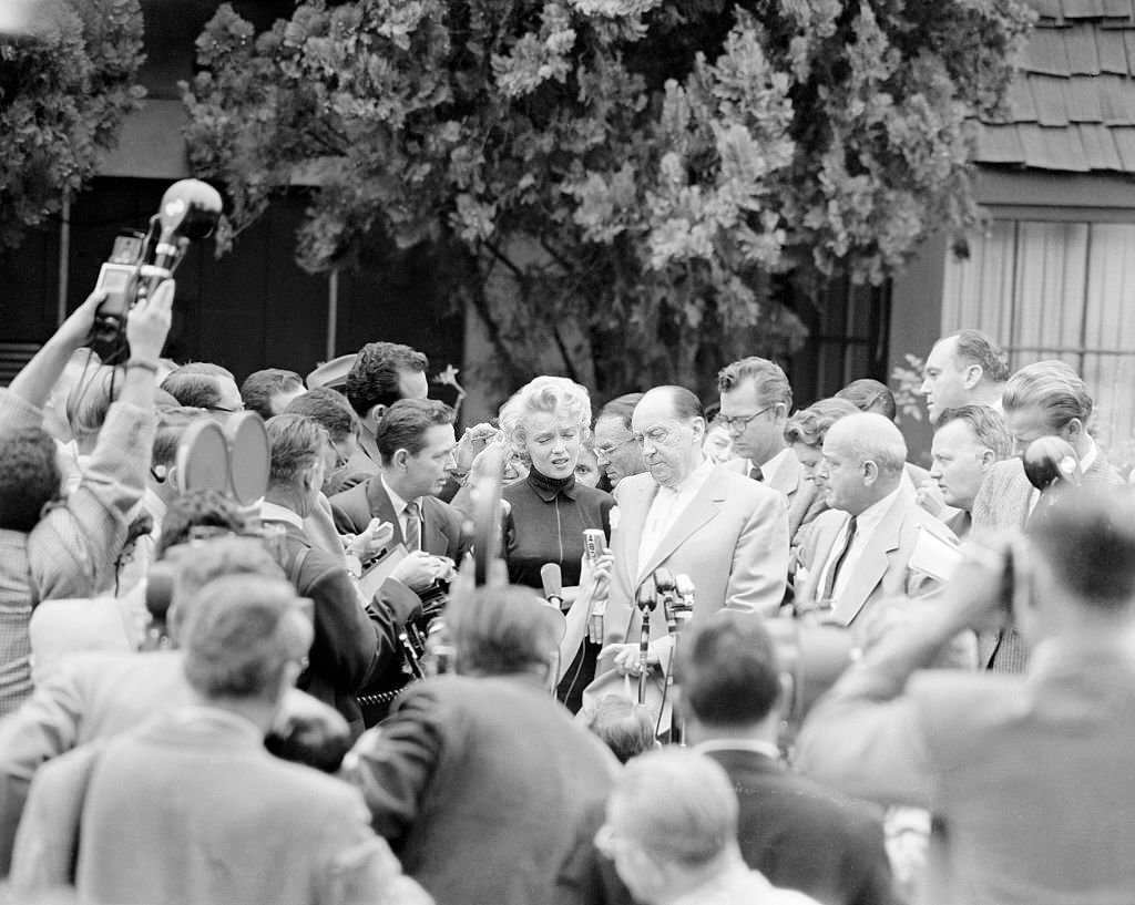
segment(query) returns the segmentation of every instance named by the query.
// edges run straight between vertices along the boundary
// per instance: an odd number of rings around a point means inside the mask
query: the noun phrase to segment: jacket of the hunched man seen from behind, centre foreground
[[[614,756],[530,677],[406,688],[344,777],[437,905],[591,905]]]

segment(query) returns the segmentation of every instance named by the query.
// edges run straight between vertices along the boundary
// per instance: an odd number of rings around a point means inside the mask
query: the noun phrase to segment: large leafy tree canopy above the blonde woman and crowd
[[[431,243],[514,380],[697,386],[800,341],[770,274],[878,282],[975,222],[968,124],[998,112],[1029,18],[1022,0],[309,0],[257,35],[225,6],[185,91],[191,155],[235,231],[317,183],[310,270]]]

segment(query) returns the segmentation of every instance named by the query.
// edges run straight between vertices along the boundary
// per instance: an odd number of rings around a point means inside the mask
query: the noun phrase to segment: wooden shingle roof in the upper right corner
[[[1135,174],[1135,0],[1031,0],[1039,14],[1008,98],[974,161]]]

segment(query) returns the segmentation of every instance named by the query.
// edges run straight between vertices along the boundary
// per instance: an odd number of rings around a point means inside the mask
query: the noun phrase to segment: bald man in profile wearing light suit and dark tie
[[[907,445],[882,415],[835,422],[817,468],[829,511],[801,550],[801,601],[840,625],[863,625],[888,598],[917,597],[949,572],[957,538],[902,482]]]

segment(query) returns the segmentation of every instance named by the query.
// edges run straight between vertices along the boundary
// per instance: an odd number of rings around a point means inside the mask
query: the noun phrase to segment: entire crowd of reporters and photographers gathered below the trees
[[[168,362],[173,297],[0,390],[0,900],[1135,902],[1135,506],[1067,364],[940,339],[928,471],[884,384],[759,357],[459,437],[406,346]],[[200,485],[242,412],[252,501]],[[578,585],[507,584],[581,500]]]

